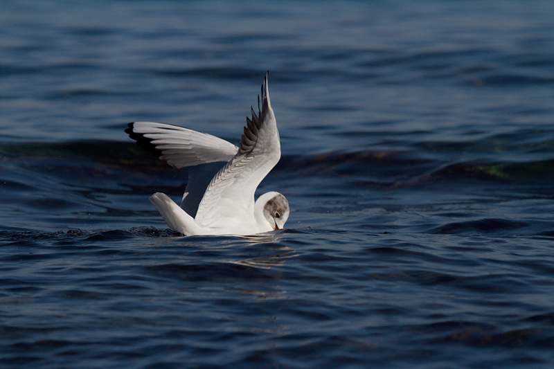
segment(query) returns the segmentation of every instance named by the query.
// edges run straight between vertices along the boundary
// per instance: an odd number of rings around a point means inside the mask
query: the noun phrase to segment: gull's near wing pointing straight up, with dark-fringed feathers
[[[269,100],[267,75],[262,84],[261,108],[258,96],[258,116],[251,111],[238,152],[215,174],[200,201],[195,219],[201,226],[229,226],[235,219],[253,217],[254,192],[280,159],[279,132]]]

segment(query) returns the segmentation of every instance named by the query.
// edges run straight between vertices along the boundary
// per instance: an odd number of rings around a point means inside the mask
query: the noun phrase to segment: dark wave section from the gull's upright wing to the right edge
[[[465,181],[506,181],[508,183],[554,182],[554,161],[524,163],[453,163],[443,166],[440,161],[414,159],[409,152],[329,153],[310,159],[282,159],[281,168],[301,176],[338,176],[355,180],[357,186],[398,188],[399,186]],[[296,168],[295,168],[296,167]],[[439,168],[435,170],[434,168]],[[292,171],[296,169],[296,171]],[[430,172],[430,173],[429,173]]]

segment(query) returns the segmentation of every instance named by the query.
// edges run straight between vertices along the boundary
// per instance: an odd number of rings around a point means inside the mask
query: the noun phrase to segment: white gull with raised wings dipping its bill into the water
[[[278,163],[281,150],[267,76],[258,95],[258,115],[251,107],[237,147],[192,129],[153,122],[129,123],[125,132],[138,145],[172,167],[188,168],[188,183],[178,206],[154,193],[150,202],[173,231],[184,235],[254,235],[283,229],[289,202],[279,192],[254,193]]]

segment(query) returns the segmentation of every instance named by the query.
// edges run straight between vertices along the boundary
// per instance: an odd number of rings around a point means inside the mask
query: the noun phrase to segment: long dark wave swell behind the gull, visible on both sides
[[[446,144],[445,144],[446,145]],[[449,150],[467,150],[468,145],[449,144]],[[432,150],[440,144],[434,143]],[[429,145],[423,147],[429,149]],[[445,162],[438,150],[434,156],[414,151],[328,152],[316,155],[283,155],[274,172],[286,179],[331,177],[346,179],[351,185],[424,186],[430,183],[458,181],[496,181],[498,183],[553,183],[554,159],[498,162],[487,159]],[[134,143],[117,141],[75,141],[70,143],[22,143],[0,147],[4,162],[22,166],[53,177],[93,181],[95,177],[116,179],[142,174],[161,179],[179,171],[150,156]],[[447,158],[449,159],[449,158]],[[118,172],[118,170],[122,172]],[[186,180],[186,174],[179,175]],[[4,178],[4,186],[33,187]],[[135,179],[125,180],[132,186]],[[170,181],[171,182],[171,181]],[[180,185],[179,185],[180,186]]]

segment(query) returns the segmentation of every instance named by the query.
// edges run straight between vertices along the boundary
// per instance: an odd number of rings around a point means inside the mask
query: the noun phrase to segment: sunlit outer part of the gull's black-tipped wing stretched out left
[[[129,137],[175,168],[229,161],[239,148],[232,143],[191,129],[153,122],[129,123]]]

